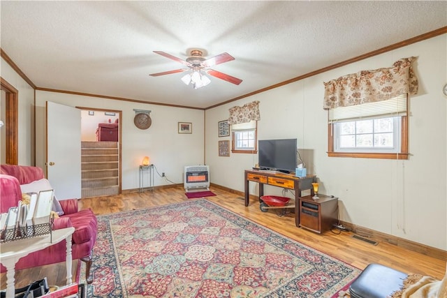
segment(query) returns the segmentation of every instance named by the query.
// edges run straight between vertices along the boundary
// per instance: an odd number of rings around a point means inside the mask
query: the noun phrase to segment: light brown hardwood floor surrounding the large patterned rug
[[[444,277],[446,272],[446,262],[443,260],[409,251],[387,242],[379,242],[374,246],[365,241],[353,239],[351,232],[336,234],[327,231],[323,234],[315,234],[295,227],[294,214],[279,216],[274,209],[261,212],[258,200],[250,200],[249,206],[244,207],[244,199],[241,195],[215,187],[210,190],[217,195],[209,197],[207,200],[359,269],[364,269],[371,262],[377,262],[406,273],[429,275],[439,280]],[[155,191],[145,191],[144,193],[85,198],[79,200],[79,205],[80,209],[91,208],[95,214],[101,215],[185,200],[188,199],[184,195],[184,189],[173,187],[157,188]],[[73,261],[73,276],[77,264],[77,261]],[[22,287],[44,276],[47,276],[50,285],[64,285],[66,283],[65,263],[17,271],[15,274],[16,287]],[[3,273],[1,274],[1,289],[4,288],[6,288],[6,274]]]

